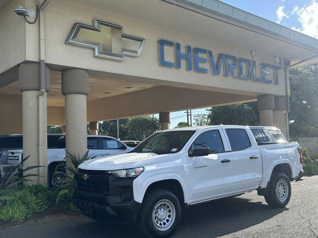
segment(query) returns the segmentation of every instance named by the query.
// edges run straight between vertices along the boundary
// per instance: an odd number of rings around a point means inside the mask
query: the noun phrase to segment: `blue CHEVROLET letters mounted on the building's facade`
[[[174,62],[164,59],[164,50],[167,47],[174,48]],[[171,49],[172,50],[172,49]],[[180,44],[167,40],[158,41],[158,62],[161,66],[181,68],[181,60],[186,61],[186,70],[193,70],[200,73],[208,73],[209,69],[205,68],[200,63],[209,63],[210,72],[213,75],[219,75],[223,64],[223,75],[228,77],[230,74],[233,78],[240,78],[243,80],[251,80],[262,83],[278,84],[278,70],[281,69],[278,65],[261,63],[260,77],[256,75],[255,60],[248,60],[244,58],[236,58],[235,56],[220,53],[216,58],[212,51],[202,48],[185,47],[185,53],[181,53]],[[273,72],[273,80],[268,78],[268,75]]]

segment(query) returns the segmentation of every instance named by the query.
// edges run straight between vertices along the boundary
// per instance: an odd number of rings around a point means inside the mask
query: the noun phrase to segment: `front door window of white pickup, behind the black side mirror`
[[[209,148],[211,154],[224,152],[223,141],[219,130],[210,130],[200,134],[189,149],[189,154],[193,149]]]

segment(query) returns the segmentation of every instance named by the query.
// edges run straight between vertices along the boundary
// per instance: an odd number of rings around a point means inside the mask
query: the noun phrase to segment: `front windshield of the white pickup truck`
[[[157,132],[140,143],[131,153],[169,154],[179,152],[195,130]]]

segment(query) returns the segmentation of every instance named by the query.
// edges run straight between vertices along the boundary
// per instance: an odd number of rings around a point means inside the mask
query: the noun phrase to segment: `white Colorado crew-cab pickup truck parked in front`
[[[82,163],[74,200],[97,221],[137,222],[145,236],[167,237],[184,206],[253,190],[270,206],[286,206],[290,181],[302,177],[302,162],[299,144],[272,127],[163,130],[130,153]]]

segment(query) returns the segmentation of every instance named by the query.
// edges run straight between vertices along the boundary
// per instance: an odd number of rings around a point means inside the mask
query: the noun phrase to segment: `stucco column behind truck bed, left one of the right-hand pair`
[[[257,97],[257,109],[259,111],[259,122],[262,126],[274,126],[273,110],[274,110],[273,95],[259,95]]]

